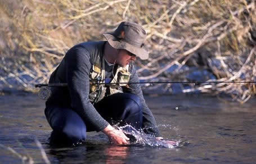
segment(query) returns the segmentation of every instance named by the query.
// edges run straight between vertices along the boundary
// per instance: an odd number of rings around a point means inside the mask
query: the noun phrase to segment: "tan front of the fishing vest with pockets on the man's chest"
[[[115,69],[115,66],[113,66]],[[118,65],[114,78],[110,81],[110,84],[97,84],[105,83],[105,61],[103,56],[97,56],[96,61],[92,65],[92,69],[89,74],[89,100],[92,104],[100,101],[102,98],[114,93],[123,93],[121,86],[127,86],[130,78],[129,64],[125,67]],[[115,83],[115,84],[111,84]]]

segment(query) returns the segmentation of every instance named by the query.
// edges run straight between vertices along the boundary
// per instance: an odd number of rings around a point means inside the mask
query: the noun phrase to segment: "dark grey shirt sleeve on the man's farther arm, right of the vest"
[[[138,79],[138,75],[137,72],[133,66],[133,64],[131,63],[131,69],[130,69],[131,75],[130,75],[130,79],[129,79],[129,83],[138,83],[140,82],[140,80]],[[128,93],[133,93],[138,95],[138,97],[140,97],[143,109],[142,109],[142,115],[143,115],[143,122],[142,122],[142,128],[143,131],[146,134],[151,134],[151,135],[155,135],[155,136],[161,136],[158,130],[158,127],[156,126],[156,121],[155,118],[152,114],[152,112],[150,111],[149,107],[147,107],[146,101],[143,98],[143,93],[141,90],[141,86],[140,84],[129,84],[129,88],[130,89],[123,89],[124,92],[128,92]]]

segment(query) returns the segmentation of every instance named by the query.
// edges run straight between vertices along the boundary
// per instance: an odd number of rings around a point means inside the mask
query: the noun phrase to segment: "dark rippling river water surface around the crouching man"
[[[5,95],[0,97],[0,163],[22,163],[21,158],[45,163],[35,140],[51,163],[255,163],[255,98],[243,105],[206,95],[145,98],[164,138],[185,144],[111,145],[103,133],[88,133],[86,144],[53,148],[44,102],[37,95]]]

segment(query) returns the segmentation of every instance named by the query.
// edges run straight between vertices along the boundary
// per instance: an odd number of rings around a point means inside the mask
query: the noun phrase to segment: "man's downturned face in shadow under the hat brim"
[[[118,56],[116,58],[116,63],[118,63],[119,66],[125,67],[126,65],[129,64],[131,61],[135,61],[136,56],[125,50],[125,49],[119,49]]]

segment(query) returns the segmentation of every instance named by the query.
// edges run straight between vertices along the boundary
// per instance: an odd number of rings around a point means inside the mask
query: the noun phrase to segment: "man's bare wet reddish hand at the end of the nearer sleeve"
[[[102,130],[109,137],[109,141],[114,144],[127,144],[129,138],[125,136],[122,130],[117,130],[113,126],[108,125]]]

